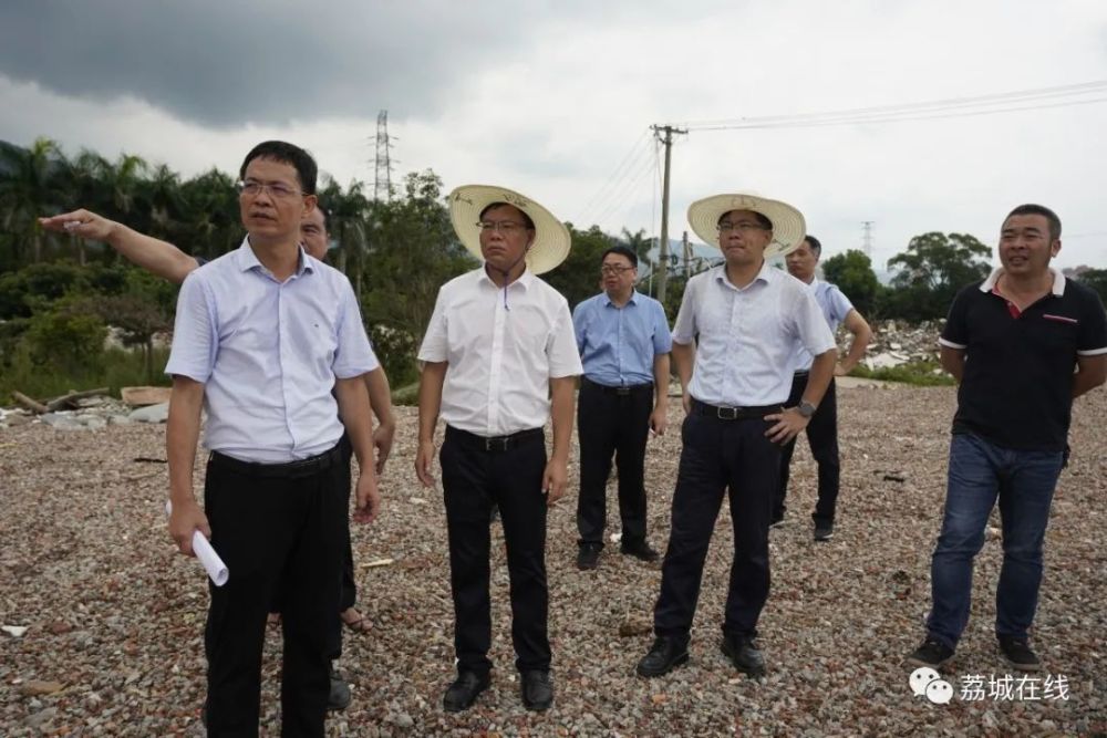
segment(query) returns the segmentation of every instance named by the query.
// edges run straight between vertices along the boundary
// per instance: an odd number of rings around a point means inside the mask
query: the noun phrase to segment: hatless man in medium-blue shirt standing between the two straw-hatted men
[[[603,292],[572,311],[584,367],[577,403],[581,570],[596,569],[603,549],[612,454],[619,474],[620,550],[642,561],[658,560],[645,538],[643,466],[649,433],[665,433],[673,345],[665,309],[634,290],[638,254],[625,246],[611,247],[603,252],[600,274]]]

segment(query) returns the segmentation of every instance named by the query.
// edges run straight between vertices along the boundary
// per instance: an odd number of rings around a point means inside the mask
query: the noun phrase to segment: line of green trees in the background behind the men
[[[172,328],[174,285],[105,245],[44,231],[40,216],[84,207],[214,259],[241,242],[234,181],[215,168],[184,178],[130,154],[110,160],[83,149],[70,157],[48,138],[29,147],[0,142],[0,402],[19,382],[32,392],[38,383],[49,394],[46,386],[65,382],[101,384],[105,372],[113,386],[156,381],[162,357],[153,337]],[[359,180],[343,187],[322,178],[319,201],[334,241],[329,260],[350,278],[382,363],[394,386],[403,386],[416,378],[416,343],[438,287],[476,262],[454,236],[434,171],[406,175],[383,201],[371,199],[368,189]],[[656,248],[644,230],[611,235],[594,225],[567,225],[572,250],[546,279],[570,305],[599,290],[600,254],[615,243],[639,254],[640,289],[648,291]],[[990,256],[972,236],[931,232],[911,239],[889,261],[894,277],[888,287],[860,251],[830,257],[823,268],[862,313],[921,321],[944,316],[956,290],[987,273]],[[1107,292],[1107,271],[1090,270],[1082,279]],[[670,277],[671,320],[684,282],[681,273]],[[141,349],[139,365],[114,378],[103,349],[108,325],[124,344]]]

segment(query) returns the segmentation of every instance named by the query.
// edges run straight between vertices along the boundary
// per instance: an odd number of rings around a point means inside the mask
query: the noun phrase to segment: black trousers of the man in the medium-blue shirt
[[[580,543],[603,547],[607,488],[614,455],[619,472],[619,517],[624,543],[645,540],[645,441],[650,434],[653,385],[620,388],[581,380],[577,403],[580,434],[580,495],[577,530]]]

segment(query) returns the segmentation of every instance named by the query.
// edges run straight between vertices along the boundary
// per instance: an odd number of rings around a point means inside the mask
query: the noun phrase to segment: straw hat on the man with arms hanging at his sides
[[[535,241],[527,251],[527,268],[532,273],[546,273],[569,256],[569,229],[538,202],[506,187],[464,185],[449,194],[449,220],[457,238],[477,259],[484,259],[480,254],[480,227],[477,221],[480,220],[480,211],[493,202],[514,206],[535,222]]]

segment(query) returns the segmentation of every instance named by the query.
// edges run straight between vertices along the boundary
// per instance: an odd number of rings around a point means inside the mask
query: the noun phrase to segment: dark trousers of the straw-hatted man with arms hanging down
[[[511,579],[511,641],[519,671],[549,669],[546,583],[546,441],[541,430],[508,448],[477,447],[472,434],[446,428],[438,460],[449,537],[454,647],[458,672],[492,669],[489,514],[499,508]]]

